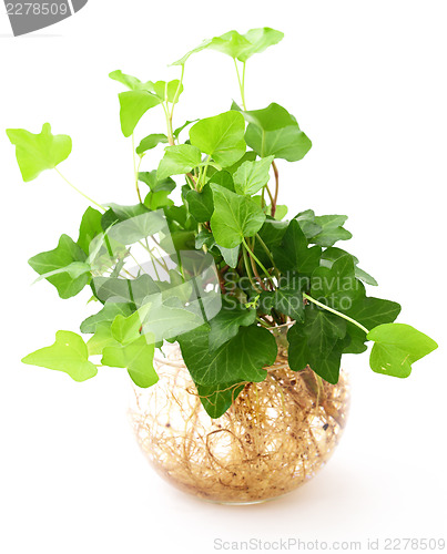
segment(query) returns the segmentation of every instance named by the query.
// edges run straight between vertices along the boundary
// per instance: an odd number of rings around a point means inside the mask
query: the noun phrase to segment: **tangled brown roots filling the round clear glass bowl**
[[[294,372],[280,352],[261,383],[247,383],[230,410],[211,419],[174,347],[155,368],[160,381],[135,392],[138,441],[169,482],[221,503],[255,503],[314,476],[336,447],[348,409],[344,372],[337,384],[309,368]]]

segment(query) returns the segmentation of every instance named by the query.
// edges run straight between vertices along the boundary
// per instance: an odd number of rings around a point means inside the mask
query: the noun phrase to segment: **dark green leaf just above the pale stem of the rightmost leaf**
[[[357,298],[365,296],[365,287],[355,277],[353,257],[342,256],[334,261],[331,269],[315,269],[312,275],[311,296],[343,312],[349,310]]]

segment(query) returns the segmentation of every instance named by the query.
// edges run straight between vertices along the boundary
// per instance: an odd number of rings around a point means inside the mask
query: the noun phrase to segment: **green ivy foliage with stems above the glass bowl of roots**
[[[172,64],[180,68],[172,81],[110,73],[123,86],[120,123],[133,143],[136,204],[102,205],[71,184],[59,170],[71,138],[52,134],[48,123],[38,134],[7,131],[23,181],[54,170],[90,204],[77,239],[62,235],[54,249],[29,260],[38,280],[61,298],[89,287],[98,305],[81,335],[58,331],[52,346],[24,363],[75,381],[99,367],[125,368],[146,388],[158,381],[154,352],[177,341],[204,408],[217,418],[245,383],[265,378],[277,356],[275,330],[287,334],[292,370],[309,367],[331,383],[342,356],[362,353],[368,342],[373,371],[400,378],[437,347],[394,322],[397,302],[367,295],[376,280],[339,247],[352,237],[345,215],[303,209],[284,220],[280,165],[303,160],[312,143],[285,107],[247,110],[245,100],[248,60],[282,39],[268,28],[214,37]],[[174,127],[185,68],[204,50],[233,59],[241,104]],[[166,129],[142,133],[136,143],[149,110],[163,111]]]

